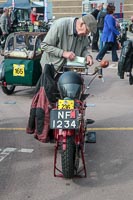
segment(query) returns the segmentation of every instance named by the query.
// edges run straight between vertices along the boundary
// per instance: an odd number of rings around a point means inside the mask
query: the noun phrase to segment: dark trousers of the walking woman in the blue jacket
[[[106,52],[111,48],[112,51],[112,61],[118,61],[117,55],[117,42],[106,42],[101,51],[98,53],[96,59],[102,60]]]

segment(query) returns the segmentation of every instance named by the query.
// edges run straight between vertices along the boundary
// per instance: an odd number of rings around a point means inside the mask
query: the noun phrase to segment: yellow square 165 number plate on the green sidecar
[[[13,64],[13,76],[25,76],[24,64]]]

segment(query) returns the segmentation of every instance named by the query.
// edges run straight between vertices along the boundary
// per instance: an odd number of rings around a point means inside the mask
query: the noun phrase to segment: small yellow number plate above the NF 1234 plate
[[[58,100],[58,109],[74,109],[74,100]]]

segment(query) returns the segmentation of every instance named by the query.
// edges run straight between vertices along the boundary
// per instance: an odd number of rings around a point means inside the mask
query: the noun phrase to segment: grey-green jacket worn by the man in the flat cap
[[[74,34],[72,17],[55,20],[49,32],[41,43],[44,51],[41,58],[41,65],[53,64],[56,70],[60,70],[65,64],[66,59],[62,57],[63,51],[73,51],[76,56],[86,57],[90,55],[87,36],[78,37],[76,44],[73,45]],[[75,47],[74,47],[75,46]]]

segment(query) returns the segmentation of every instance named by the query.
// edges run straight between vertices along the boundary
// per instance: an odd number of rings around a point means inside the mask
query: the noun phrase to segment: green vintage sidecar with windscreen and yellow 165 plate
[[[8,36],[0,65],[0,83],[5,94],[11,95],[16,86],[36,85],[42,73],[40,43],[45,35],[44,32],[15,32]]]

